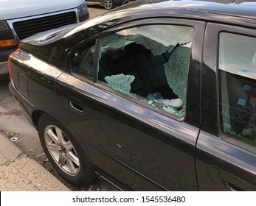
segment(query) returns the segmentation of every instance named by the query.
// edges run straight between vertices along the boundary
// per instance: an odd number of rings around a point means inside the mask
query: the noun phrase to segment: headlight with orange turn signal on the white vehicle
[[[0,21],[0,49],[16,46],[16,41],[5,21]]]

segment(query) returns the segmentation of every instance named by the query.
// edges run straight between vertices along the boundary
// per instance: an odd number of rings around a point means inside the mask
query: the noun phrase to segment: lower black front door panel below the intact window
[[[196,149],[199,191],[255,191],[252,152],[200,132]]]

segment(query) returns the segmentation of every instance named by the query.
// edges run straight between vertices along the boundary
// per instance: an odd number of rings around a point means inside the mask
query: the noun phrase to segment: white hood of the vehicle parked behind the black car
[[[78,7],[84,2],[84,0],[0,0],[0,20],[68,10]]]

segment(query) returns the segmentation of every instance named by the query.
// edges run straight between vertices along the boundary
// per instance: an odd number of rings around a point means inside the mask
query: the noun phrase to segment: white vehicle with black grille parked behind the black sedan
[[[84,0],[13,2],[0,0],[0,77],[8,77],[7,59],[19,41],[58,26],[89,18]],[[14,5],[13,5],[14,4]]]

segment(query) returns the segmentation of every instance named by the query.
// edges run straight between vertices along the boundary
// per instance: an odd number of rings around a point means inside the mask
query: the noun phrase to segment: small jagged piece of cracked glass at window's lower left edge
[[[134,81],[134,75],[117,74],[105,77],[105,81],[108,85],[121,93],[131,95],[131,83]]]

